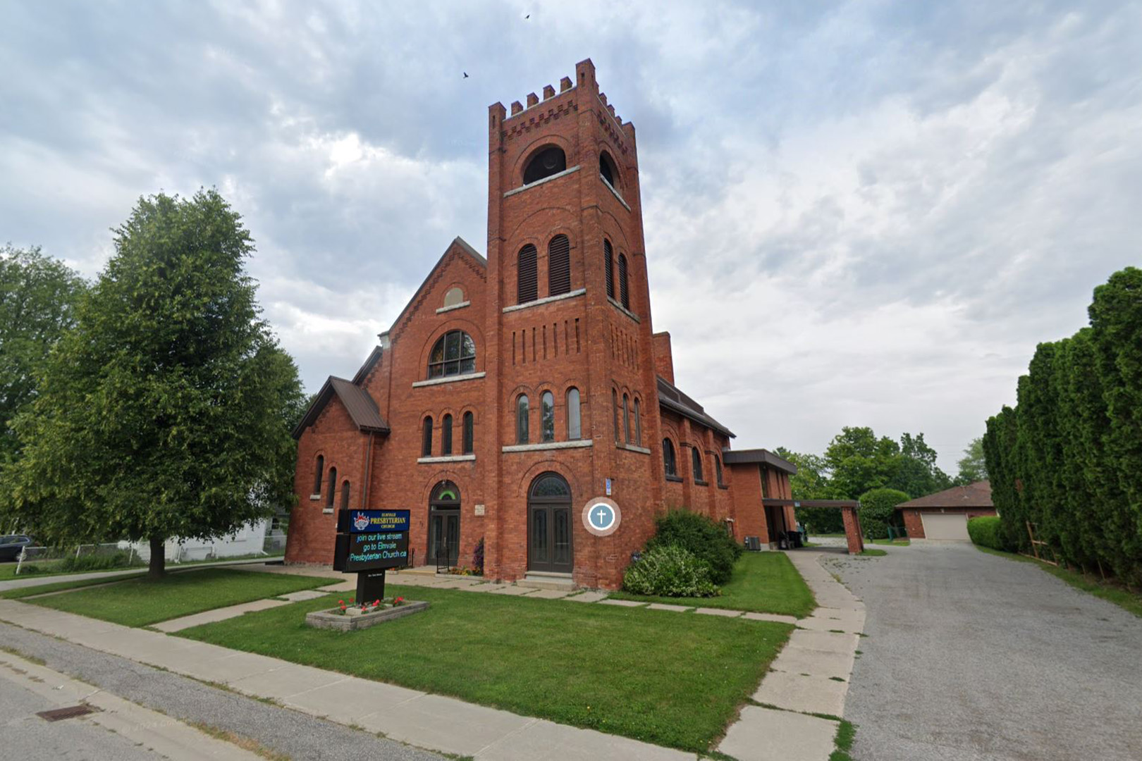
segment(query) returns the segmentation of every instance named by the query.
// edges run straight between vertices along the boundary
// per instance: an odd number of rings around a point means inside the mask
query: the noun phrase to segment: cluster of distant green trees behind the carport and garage
[[[893,515],[894,505],[987,478],[980,446],[976,439],[965,450],[955,479],[936,465],[935,450],[925,443],[924,434],[904,434],[896,442],[877,437],[871,428],[845,427],[823,455],[785,447],[778,447],[777,454],[797,465],[790,479],[795,500],[861,500],[866,533],[885,536],[888,524],[899,518]],[[799,508],[797,519],[815,533],[844,531],[841,511],[830,508]]]

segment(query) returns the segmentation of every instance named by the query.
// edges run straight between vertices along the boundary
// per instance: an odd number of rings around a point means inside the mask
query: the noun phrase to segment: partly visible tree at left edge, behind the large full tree
[[[17,454],[9,424],[35,397],[35,371],[75,322],[82,278],[38,246],[0,246],[0,468]]]

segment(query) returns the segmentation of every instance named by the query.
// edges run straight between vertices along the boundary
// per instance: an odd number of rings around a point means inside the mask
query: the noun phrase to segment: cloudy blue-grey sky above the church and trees
[[[589,57],[678,386],[737,448],[871,426],[952,473],[1142,264],[1142,5],[626,5],[0,0],[0,242],[94,276],[139,195],[215,186],[313,391],[486,249],[488,105]]]

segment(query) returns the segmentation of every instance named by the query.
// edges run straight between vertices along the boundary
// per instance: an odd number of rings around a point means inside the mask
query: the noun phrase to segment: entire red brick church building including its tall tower
[[[356,375],[322,387],[295,431],[287,561],[332,561],[337,508],[411,510],[416,565],[471,566],[483,540],[490,578],[589,588],[621,584],[670,508],[763,545],[793,528],[795,468],[731,451],[674,386],[646,267],[635,128],[590,60],[491,106],[486,258],[456,238]]]

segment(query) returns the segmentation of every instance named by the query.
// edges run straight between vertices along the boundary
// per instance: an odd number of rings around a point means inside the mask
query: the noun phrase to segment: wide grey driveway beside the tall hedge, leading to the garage
[[[971,544],[830,570],[867,606],[856,761],[1139,761],[1142,618]]]

